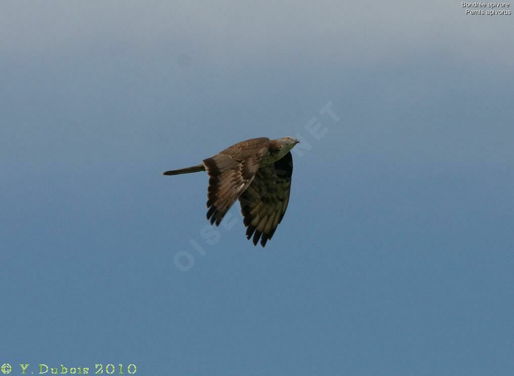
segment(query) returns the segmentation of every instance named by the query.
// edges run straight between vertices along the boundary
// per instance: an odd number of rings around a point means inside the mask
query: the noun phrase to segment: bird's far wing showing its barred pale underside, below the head
[[[259,238],[264,247],[277,229],[289,202],[291,190],[292,157],[288,152],[282,159],[259,168],[248,189],[239,197],[246,237],[253,235],[253,244]]]

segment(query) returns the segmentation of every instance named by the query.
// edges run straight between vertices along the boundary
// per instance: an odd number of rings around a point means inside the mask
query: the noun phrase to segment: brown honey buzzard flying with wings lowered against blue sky
[[[207,171],[207,219],[218,226],[235,200],[241,203],[246,237],[264,247],[277,229],[289,202],[292,156],[298,144],[292,137],[241,141],[201,164],[170,170],[162,175]]]

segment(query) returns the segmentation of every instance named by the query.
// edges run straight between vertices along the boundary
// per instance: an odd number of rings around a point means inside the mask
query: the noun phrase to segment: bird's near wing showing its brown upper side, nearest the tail
[[[268,138],[242,141],[203,161],[209,174],[207,219],[211,225],[223,216],[247,189],[269,147]]]

